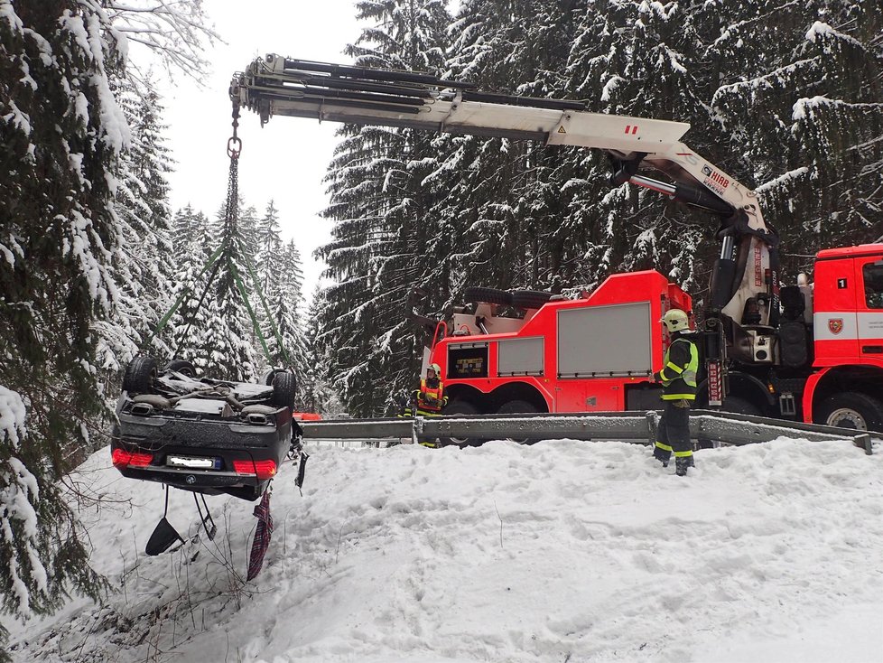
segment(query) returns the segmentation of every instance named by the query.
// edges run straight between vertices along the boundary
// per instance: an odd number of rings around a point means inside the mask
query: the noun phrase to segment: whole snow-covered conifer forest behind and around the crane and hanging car
[[[366,0],[353,11],[362,31],[344,56],[359,66],[691,123],[690,145],[760,194],[785,279],[821,248],[883,241],[879,0]],[[302,409],[392,416],[421,366],[415,286],[439,317],[470,286],[569,294],[655,268],[699,302],[708,288],[716,222],[611,188],[606,156],[572,147],[341,126],[324,175],[331,240],[315,257],[283,238],[290,210],[248,191],[237,210],[172,210],[159,74],[137,55],[201,72],[221,38],[200,0],[0,0],[5,612],[102,592],[73,507],[96,498],[66,477],[107,444],[140,351],[243,380],[290,361]],[[313,259],[327,270],[307,293]],[[253,273],[248,294],[267,303],[254,322],[230,265]]]

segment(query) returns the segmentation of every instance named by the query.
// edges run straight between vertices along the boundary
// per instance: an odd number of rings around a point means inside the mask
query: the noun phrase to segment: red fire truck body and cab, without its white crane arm
[[[612,275],[577,300],[467,294],[474,311],[441,323],[427,354],[446,378],[445,414],[652,409],[648,377],[667,345],[657,321],[669,308],[692,311],[690,295],[655,271]],[[771,340],[730,343],[724,409],[883,430],[883,245],[820,252],[814,284],[781,297]]]

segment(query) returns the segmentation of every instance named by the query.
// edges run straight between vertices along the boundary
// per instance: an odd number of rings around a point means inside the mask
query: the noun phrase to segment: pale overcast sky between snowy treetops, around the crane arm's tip
[[[212,72],[203,89],[179,74],[164,90],[164,117],[177,160],[170,177],[172,210],[190,203],[213,217],[227,197],[227,141],[232,134],[228,86],[233,73],[271,52],[301,60],[349,63],[351,59],[342,51],[357,39],[360,28],[354,0],[206,0],[204,5],[216,32],[227,43],[218,43],[207,52]],[[330,238],[330,221],[319,217],[327,201],[321,178],[338,127],[274,117],[261,128],[256,114],[246,109],[239,120],[243,144],[240,195],[259,214],[274,200],[283,237],[293,238],[301,250],[307,297],[322,269],[312,251]]]

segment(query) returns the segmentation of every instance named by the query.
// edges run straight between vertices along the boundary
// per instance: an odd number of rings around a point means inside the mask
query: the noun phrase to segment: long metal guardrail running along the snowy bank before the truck
[[[386,419],[330,419],[302,422],[305,440],[385,440],[428,438],[624,440],[655,441],[659,412],[598,412],[592,414],[525,414],[436,416]],[[778,437],[809,441],[849,440],[872,453],[872,439],[883,433],[850,431],[833,426],[783,421],[765,416],[692,410],[694,439],[725,444],[754,444]]]

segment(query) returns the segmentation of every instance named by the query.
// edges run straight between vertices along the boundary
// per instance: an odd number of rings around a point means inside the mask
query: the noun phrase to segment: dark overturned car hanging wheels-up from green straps
[[[125,369],[111,438],[123,476],[204,495],[256,500],[293,451],[295,381],[287,370],[262,384],[196,378],[193,365],[138,356]]]

